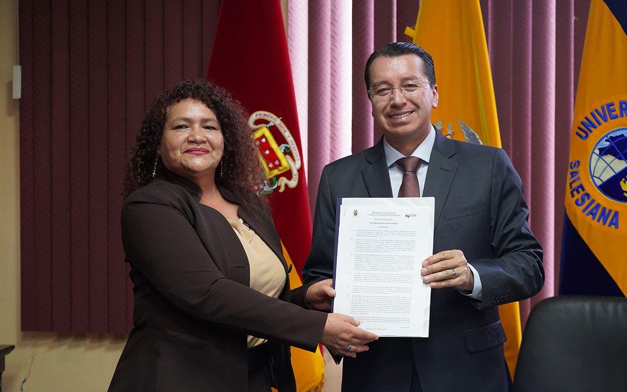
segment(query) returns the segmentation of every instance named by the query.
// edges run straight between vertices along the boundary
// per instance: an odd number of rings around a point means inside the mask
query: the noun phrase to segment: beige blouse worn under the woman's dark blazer
[[[240,238],[250,264],[250,287],[270,297],[278,298],[285,286],[285,269],[277,255],[240,218],[228,220]],[[265,343],[266,339],[248,335],[248,348]]]

